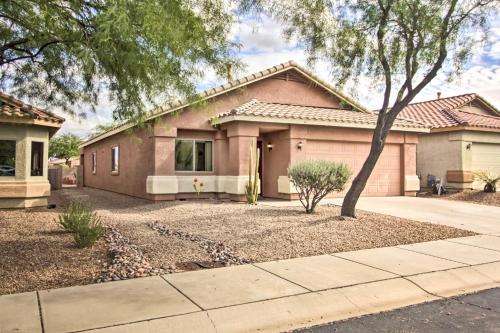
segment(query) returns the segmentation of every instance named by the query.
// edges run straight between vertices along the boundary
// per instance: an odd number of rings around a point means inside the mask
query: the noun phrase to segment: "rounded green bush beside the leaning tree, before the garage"
[[[328,193],[343,191],[351,175],[347,165],[324,160],[299,161],[288,168],[288,178],[308,214]]]

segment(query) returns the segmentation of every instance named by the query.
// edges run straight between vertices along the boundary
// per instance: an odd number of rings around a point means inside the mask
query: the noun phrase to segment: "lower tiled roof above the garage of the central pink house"
[[[345,127],[375,127],[377,123],[377,115],[375,113],[364,113],[353,110],[322,108],[312,106],[301,106],[291,104],[265,103],[257,99],[242,104],[228,112],[224,112],[217,117],[214,117],[213,123],[223,121],[224,118],[241,119],[244,117],[257,117],[260,119],[270,118],[282,122],[290,122],[293,120],[331,123],[332,126]],[[242,119],[243,120],[243,119]],[[420,128],[427,129],[428,126],[413,120],[396,119],[394,128]]]

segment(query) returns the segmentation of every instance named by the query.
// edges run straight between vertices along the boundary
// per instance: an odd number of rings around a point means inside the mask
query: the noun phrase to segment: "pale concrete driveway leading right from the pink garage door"
[[[342,204],[342,198],[329,200]],[[500,207],[416,197],[363,197],[357,209],[444,224],[480,234],[500,233]]]

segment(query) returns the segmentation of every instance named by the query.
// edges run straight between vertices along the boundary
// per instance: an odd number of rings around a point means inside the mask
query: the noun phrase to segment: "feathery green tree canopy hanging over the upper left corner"
[[[194,80],[232,60],[234,19],[224,0],[9,0],[0,2],[0,87],[40,105],[95,109],[116,119],[190,96]]]

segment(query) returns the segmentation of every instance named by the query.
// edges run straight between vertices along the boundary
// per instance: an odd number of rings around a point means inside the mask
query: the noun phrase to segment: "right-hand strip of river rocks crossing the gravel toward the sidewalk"
[[[180,230],[169,229],[166,225],[155,221],[149,223],[148,226],[157,231],[160,235],[174,236],[183,240],[197,243],[203,250],[205,250],[212,261],[222,263],[224,266],[247,264],[250,261],[238,256],[229,246],[222,242],[214,241],[200,235],[192,234]]]

